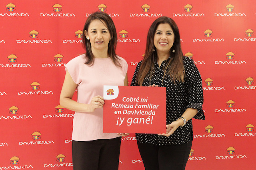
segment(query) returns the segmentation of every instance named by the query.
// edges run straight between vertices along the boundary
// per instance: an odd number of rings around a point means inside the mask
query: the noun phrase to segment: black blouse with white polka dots
[[[176,121],[187,108],[198,110],[194,118],[205,119],[202,110],[202,78],[194,61],[188,57],[184,57],[185,82],[176,82],[174,84],[168,74],[163,79],[164,69],[169,60],[170,57],[166,61],[163,61],[160,67],[158,66],[158,62],[155,61],[154,74],[152,74],[151,80],[146,76],[142,86],[155,84],[160,87],[166,87],[166,124]],[[141,63],[142,61],[136,67],[131,86],[138,86],[138,84],[135,84],[135,79]],[[193,140],[192,119],[187,121],[184,127],[178,127],[169,137],[158,136],[158,134],[136,133],[136,139],[140,143],[151,143],[155,145],[182,145],[188,143]]]

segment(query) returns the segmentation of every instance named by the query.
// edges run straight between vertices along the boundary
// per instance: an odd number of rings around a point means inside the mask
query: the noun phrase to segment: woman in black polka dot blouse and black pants
[[[171,18],[160,17],[150,26],[131,86],[166,87],[166,133],[136,134],[145,169],[185,169],[193,140],[191,119],[205,119],[202,79],[194,61],[183,56]]]

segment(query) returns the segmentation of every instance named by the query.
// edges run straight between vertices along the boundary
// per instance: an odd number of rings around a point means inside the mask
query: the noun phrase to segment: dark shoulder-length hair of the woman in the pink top
[[[84,24],[82,40],[83,40],[84,49],[86,50],[87,61],[85,62],[85,64],[89,64],[89,65],[94,64],[94,55],[92,54],[92,46],[91,46],[90,40],[86,39],[86,36],[85,36],[85,31],[88,31],[88,27],[93,20],[100,20],[101,22],[104,21],[106,23],[106,25],[105,24],[104,25],[108,28],[108,31],[110,32],[110,37],[111,37],[111,40],[108,43],[108,56],[112,59],[113,63],[116,66],[121,66],[120,63],[118,62],[119,58],[115,52],[116,44],[117,44],[116,27],[114,25],[113,20],[110,18],[110,16],[104,12],[92,13],[87,18]]]

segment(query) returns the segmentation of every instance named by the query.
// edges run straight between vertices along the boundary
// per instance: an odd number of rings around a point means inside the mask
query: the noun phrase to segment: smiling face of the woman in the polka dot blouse
[[[169,53],[174,43],[174,33],[168,23],[160,23],[154,35],[154,45],[157,52]]]

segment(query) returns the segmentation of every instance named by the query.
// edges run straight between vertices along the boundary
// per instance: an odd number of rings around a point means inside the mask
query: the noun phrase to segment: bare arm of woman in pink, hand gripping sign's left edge
[[[82,104],[72,100],[74,91],[76,90],[77,84],[73,81],[68,70],[66,71],[65,80],[60,92],[60,105],[78,112],[93,112],[96,108],[102,108],[104,99],[101,96],[95,96],[92,98],[90,104]],[[94,105],[98,102],[98,105]]]

